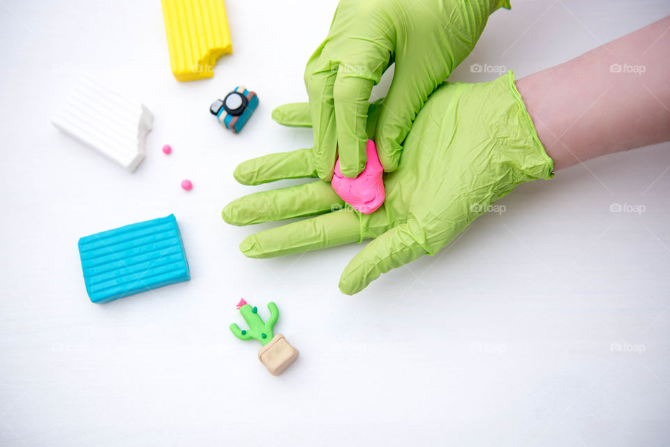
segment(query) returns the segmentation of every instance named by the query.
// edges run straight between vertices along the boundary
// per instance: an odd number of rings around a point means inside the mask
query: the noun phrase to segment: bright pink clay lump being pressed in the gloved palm
[[[335,192],[356,211],[370,214],[377,211],[384,203],[384,182],[382,181],[384,168],[379,162],[375,142],[371,139],[368,139],[366,153],[368,162],[363,172],[355,179],[342,175],[338,158],[335,162],[335,174],[331,184]]]

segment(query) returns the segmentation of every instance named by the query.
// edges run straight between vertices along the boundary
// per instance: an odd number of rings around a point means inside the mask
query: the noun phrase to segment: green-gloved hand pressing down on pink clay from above
[[[509,8],[509,0],[341,0],[305,70],[318,176],[332,179],[338,156],[345,176],[362,172],[370,93],[395,62],[371,136],[385,171],[394,171],[426,98],[466,59],[501,6]]]

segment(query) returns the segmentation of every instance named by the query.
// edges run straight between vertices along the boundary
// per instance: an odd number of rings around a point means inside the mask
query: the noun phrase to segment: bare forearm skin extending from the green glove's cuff
[[[670,16],[516,82],[554,169],[670,140]]]

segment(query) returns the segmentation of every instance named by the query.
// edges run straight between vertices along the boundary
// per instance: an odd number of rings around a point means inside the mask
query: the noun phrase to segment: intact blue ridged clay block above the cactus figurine
[[[94,303],[191,279],[173,214],[85,236],[79,254]]]

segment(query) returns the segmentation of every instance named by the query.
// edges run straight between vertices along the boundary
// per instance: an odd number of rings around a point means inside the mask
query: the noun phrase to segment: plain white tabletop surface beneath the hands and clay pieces
[[[496,77],[472,63],[520,78],[670,13],[667,0],[513,3],[453,79]],[[505,213],[357,296],[337,284],[359,245],[241,255],[276,224],[221,220],[271,188],[232,171],[311,146],[270,114],[306,99],[304,64],[335,6],[227,0],[234,54],[213,79],[178,83],[157,0],[0,2],[1,446],[667,445],[668,143],[521,185]],[[134,174],[49,122],[84,72],[154,112]],[[260,107],[232,135],[208,108],[238,84]],[[170,213],[191,281],[92,304],[77,239]],[[262,315],[278,304],[276,331],[300,350],[281,377],[228,330],[240,296]]]

